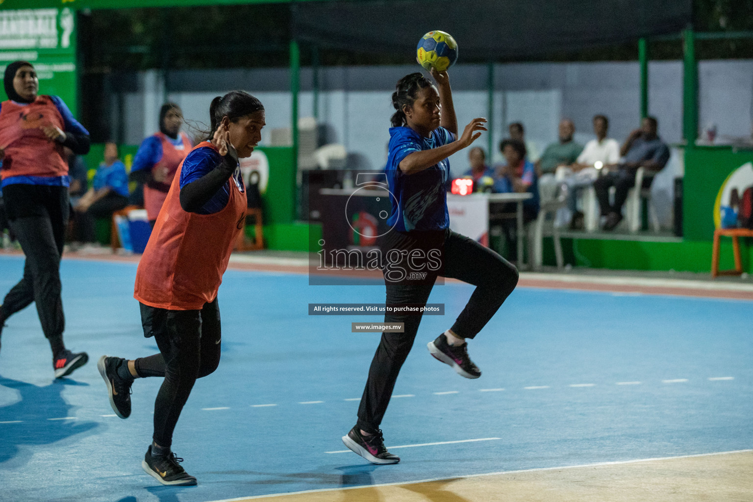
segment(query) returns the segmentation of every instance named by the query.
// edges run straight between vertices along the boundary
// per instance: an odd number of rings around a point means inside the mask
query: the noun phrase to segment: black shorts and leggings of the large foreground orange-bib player
[[[220,363],[220,309],[217,299],[201,310],[157,309],[139,303],[144,336],[154,336],[160,354],[134,362],[139,376],[163,376],[154,401],[154,443],[172,445],[172,431],[194,388]]]

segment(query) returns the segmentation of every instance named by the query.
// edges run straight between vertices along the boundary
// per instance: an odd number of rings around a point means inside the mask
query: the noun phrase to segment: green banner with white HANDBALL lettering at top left
[[[75,11],[70,8],[0,11],[0,71],[18,59],[31,62],[39,93],[60,96],[73,114],[77,108],[75,25]]]

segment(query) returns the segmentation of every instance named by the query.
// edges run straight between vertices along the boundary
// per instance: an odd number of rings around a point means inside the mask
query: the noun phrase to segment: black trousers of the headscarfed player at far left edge
[[[3,199],[8,223],[26,263],[23,278],[5,295],[2,316],[8,318],[35,302],[54,357],[65,348],[60,257],[68,225],[68,187],[10,184],[3,189]]]

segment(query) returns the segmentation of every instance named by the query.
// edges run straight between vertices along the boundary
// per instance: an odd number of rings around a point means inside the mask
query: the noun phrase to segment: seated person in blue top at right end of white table
[[[505,139],[499,144],[499,150],[505,156],[505,166],[497,169],[497,178],[494,182],[496,193],[532,193],[532,198],[523,202],[523,223],[529,223],[538,216],[538,182],[535,166],[530,160],[526,160],[526,145],[523,141]],[[516,204],[508,203],[503,208],[504,212],[516,211]],[[505,219],[502,224],[505,233],[508,255],[511,261],[517,261],[517,221],[514,218]]]

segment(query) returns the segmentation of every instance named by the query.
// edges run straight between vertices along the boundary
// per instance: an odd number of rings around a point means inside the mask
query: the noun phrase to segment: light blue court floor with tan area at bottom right
[[[0,294],[23,257],[0,256]],[[383,285],[308,286],[305,266],[233,260],[220,288],[222,360],[197,381],[173,449],[195,487],[141,468],[161,379],[112,412],[102,354],[140,357],[133,260],[66,259],[66,345],[90,355],[53,380],[34,306],[0,351],[0,500],[753,500],[751,284],[523,275],[469,344],[462,379],[425,348],[472,287],[437,286],[382,428],[400,464],[340,437],[355,423],[377,316],[309,316],[308,303],[383,303]],[[715,454],[715,455],[708,455]],[[293,493],[303,492],[303,493]]]

